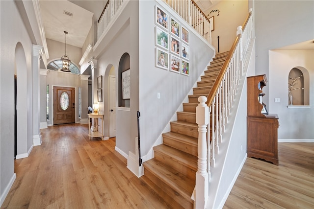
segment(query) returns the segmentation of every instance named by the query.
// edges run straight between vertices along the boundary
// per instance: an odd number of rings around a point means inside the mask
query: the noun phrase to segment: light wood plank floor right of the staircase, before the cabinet
[[[314,209],[314,143],[278,143],[279,165],[248,158],[224,209]]]

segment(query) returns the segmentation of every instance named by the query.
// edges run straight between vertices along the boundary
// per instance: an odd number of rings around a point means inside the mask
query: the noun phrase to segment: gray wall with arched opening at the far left
[[[27,80],[31,77],[29,72],[32,69],[32,43],[14,1],[0,1],[0,19],[0,204],[2,204],[15,179],[13,134],[15,50],[20,42],[26,59],[26,66],[24,66],[26,77],[20,79]],[[31,79],[27,82],[24,82],[24,87],[27,88],[26,93],[32,95]],[[24,124],[27,134],[23,142],[27,146],[25,147],[27,151],[33,140],[31,98],[27,98],[27,104],[24,104],[26,116],[23,120],[29,122],[29,124]],[[19,105],[22,107],[21,104]]]

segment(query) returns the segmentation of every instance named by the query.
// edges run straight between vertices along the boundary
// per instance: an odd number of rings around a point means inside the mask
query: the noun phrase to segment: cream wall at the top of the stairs
[[[218,10],[219,13],[218,11],[211,12],[212,10]],[[248,11],[248,0],[221,0],[220,3],[204,12],[208,18],[214,17],[211,44],[216,48],[217,52],[217,36],[219,36],[219,53],[229,51],[235,41],[236,27],[243,25],[248,16]]]

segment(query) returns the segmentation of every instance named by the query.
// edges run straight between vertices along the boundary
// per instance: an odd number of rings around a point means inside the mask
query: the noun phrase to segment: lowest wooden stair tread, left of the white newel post
[[[192,202],[191,195],[195,187],[195,181],[186,178],[181,173],[176,172],[176,170],[168,169],[166,165],[155,159],[146,161],[144,164],[145,169],[149,170],[151,173],[154,173],[154,175],[158,179],[160,179],[165,185],[171,187],[173,190],[178,192],[183,198],[190,200]],[[165,189],[163,186],[159,188]],[[176,199],[176,196],[178,195],[175,195],[173,198]],[[180,199],[179,200],[178,199],[177,201],[180,201]]]

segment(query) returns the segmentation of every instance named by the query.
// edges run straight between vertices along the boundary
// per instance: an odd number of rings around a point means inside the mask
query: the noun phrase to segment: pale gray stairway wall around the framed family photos
[[[184,76],[155,67],[155,5],[157,5],[156,1],[139,1],[139,111],[143,156],[160,137],[214,55],[211,46],[194,34],[193,29],[169,6],[160,2],[159,5],[169,14],[169,17],[174,17],[190,31],[190,75]],[[160,93],[160,99],[157,99],[157,93]],[[133,116],[133,123],[136,124],[136,113],[131,116]],[[136,130],[136,127],[134,129]]]

